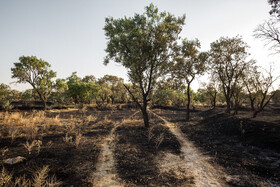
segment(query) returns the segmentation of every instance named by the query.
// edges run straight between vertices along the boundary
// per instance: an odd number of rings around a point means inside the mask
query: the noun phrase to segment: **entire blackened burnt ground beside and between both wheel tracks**
[[[191,121],[185,122],[185,111],[176,108],[154,109],[169,122],[180,126],[185,136],[205,156],[210,157],[212,166],[222,167],[228,175],[224,178],[229,186],[280,185],[280,107],[270,106],[256,119],[244,108],[233,116],[224,113],[223,107],[215,110],[197,108],[191,112]],[[34,171],[48,165],[49,175],[55,174],[63,186],[92,186],[89,179],[96,170],[101,143],[117,122],[121,125],[115,131],[114,159],[118,177],[125,186],[193,186],[195,177],[191,171],[178,176],[176,167],[161,171],[158,157],[173,154],[178,157],[180,143],[170,130],[161,125],[155,116],[151,116],[152,138],[143,127],[140,115],[128,119],[136,110],[54,110],[46,113],[48,117],[61,120],[77,120],[75,129],[69,131],[62,126],[49,125],[48,131],[39,130],[43,145],[39,153],[28,155],[23,147],[26,137],[11,138],[0,121],[0,148],[9,148],[4,159],[23,156],[24,162],[4,167],[14,177],[26,175],[32,178]],[[25,112],[24,115],[30,115]],[[95,118],[88,119],[88,116]],[[63,141],[66,133],[73,136],[83,134],[78,147]],[[157,147],[161,134],[163,141]],[[175,156],[175,157],[176,157]],[[174,158],[175,158],[174,157]],[[173,158],[173,157],[172,157]],[[2,160],[2,158],[1,158]],[[174,170],[175,168],[175,170]],[[2,165],[0,165],[2,170]]]

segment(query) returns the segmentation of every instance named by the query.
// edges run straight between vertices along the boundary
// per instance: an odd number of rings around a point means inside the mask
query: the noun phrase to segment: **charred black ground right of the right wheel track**
[[[236,116],[224,111],[223,107],[201,108],[192,111],[190,122],[184,122],[184,111],[160,110],[162,116],[180,124],[186,137],[212,158],[212,165],[224,168],[228,185],[280,185],[280,107],[270,106],[255,119],[246,108]]]

